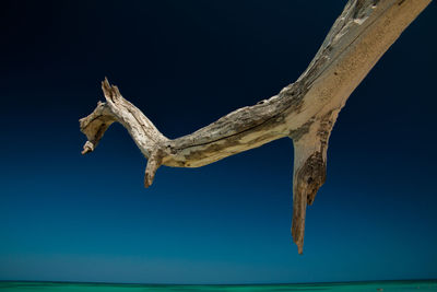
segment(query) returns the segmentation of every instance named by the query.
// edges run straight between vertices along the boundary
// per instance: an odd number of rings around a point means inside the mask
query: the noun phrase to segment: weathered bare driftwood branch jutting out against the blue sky
[[[328,140],[347,97],[430,0],[350,0],[299,79],[277,95],[239,108],[200,130],[170,140],[105,79],[106,102],[80,120],[94,151],[118,121],[147,159],[149,187],[161,165],[199,167],[290,137],[294,142],[292,235],[303,253],[305,213],[326,179]]]

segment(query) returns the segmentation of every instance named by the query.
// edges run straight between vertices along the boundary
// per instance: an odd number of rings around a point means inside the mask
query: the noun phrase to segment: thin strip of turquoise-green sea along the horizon
[[[111,284],[67,282],[11,282],[0,281],[0,291],[8,292],[164,292],[164,291],[437,291],[437,280],[376,281],[305,284],[248,284],[248,285],[169,285],[169,284]]]

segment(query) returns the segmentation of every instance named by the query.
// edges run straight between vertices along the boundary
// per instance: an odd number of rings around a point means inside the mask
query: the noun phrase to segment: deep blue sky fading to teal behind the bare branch
[[[288,139],[162,167],[149,189],[120,125],[80,154],[105,75],[165,136],[187,135],[295,81],[344,3],[2,1],[0,280],[437,278],[435,4],[341,112],[303,256]]]

